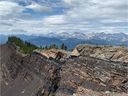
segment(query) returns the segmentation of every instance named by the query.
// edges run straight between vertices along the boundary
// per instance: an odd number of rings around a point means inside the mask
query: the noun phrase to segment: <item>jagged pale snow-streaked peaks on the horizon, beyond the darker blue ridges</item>
[[[102,40],[121,40],[121,41],[128,41],[128,35],[125,33],[49,33],[47,36],[50,37],[61,37],[61,38],[77,38],[83,40],[90,40],[90,39],[102,39]]]

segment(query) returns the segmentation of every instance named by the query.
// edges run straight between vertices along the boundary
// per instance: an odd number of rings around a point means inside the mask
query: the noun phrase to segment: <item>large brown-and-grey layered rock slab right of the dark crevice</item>
[[[128,69],[126,66],[124,63],[103,61],[92,57],[80,56],[69,59],[62,67],[60,87],[57,92],[65,93],[66,96],[77,93],[79,88],[99,93],[127,92]]]

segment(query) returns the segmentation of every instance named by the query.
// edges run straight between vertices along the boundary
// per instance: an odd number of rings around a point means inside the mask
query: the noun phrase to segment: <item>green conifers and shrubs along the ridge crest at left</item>
[[[23,41],[16,36],[8,37],[7,43],[12,43],[12,44],[16,45],[17,47],[19,47],[20,51],[24,54],[32,53],[33,50],[35,50],[35,49],[48,50],[48,49],[55,48],[55,49],[67,50],[67,46],[64,43],[62,43],[60,46],[58,46],[56,44],[51,44],[49,46],[46,45],[44,47],[42,47],[42,46],[38,47],[30,42]]]

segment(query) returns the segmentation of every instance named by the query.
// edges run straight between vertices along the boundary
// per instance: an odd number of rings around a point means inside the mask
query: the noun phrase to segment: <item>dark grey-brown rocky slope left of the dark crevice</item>
[[[40,89],[43,96],[55,93],[60,80],[57,63],[35,52],[22,56],[13,45],[2,45],[1,50],[2,96],[39,96]]]

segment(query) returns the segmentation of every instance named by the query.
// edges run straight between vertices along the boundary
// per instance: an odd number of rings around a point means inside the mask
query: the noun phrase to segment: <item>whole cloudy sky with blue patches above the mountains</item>
[[[127,0],[0,0],[0,34],[128,34]]]

